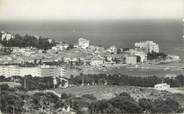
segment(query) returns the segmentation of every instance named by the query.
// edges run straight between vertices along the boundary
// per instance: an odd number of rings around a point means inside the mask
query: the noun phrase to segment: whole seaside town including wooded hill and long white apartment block
[[[106,71],[112,67],[146,67],[147,64],[180,60],[179,56],[160,53],[159,45],[153,41],[136,42],[133,49],[117,48],[114,45],[105,49],[91,45],[84,38],[79,38],[78,44],[28,35],[24,39],[28,41],[21,43],[21,36],[1,32],[0,75],[70,76],[67,71]],[[37,40],[42,47],[35,43]],[[48,69],[50,72],[46,73]]]

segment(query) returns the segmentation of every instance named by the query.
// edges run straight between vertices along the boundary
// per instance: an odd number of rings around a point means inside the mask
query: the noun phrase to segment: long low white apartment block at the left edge
[[[0,75],[5,77],[32,75],[38,77],[64,76],[64,69],[58,66],[41,65],[36,67],[21,67],[17,65],[0,66]]]

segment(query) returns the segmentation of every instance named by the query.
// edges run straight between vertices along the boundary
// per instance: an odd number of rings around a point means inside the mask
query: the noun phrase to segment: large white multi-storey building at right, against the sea
[[[147,52],[156,52],[159,53],[159,45],[153,41],[143,41],[143,42],[136,42],[136,48],[145,49]]]

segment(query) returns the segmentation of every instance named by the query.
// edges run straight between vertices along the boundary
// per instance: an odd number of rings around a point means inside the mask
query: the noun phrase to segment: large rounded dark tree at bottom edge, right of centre
[[[100,100],[90,105],[91,113],[141,113],[142,107],[127,93],[110,100]]]

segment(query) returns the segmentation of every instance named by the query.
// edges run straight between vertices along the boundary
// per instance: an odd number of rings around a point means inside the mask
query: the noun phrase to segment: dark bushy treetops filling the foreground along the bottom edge
[[[37,92],[25,94],[16,92],[16,88],[1,85],[0,109],[6,113],[21,112],[57,112],[70,107],[81,114],[107,114],[107,113],[175,113],[183,109],[173,99],[139,99],[135,101],[129,94],[121,93],[114,98],[97,100],[90,94],[76,97],[61,94],[58,97],[54,93]]]

